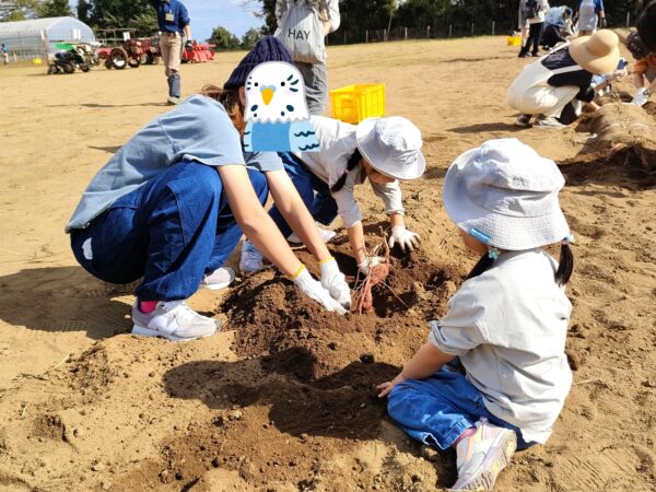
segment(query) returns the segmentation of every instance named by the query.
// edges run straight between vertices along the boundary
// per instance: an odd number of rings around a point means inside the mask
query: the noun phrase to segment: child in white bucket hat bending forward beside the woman
[[[415,179],[425,169],[421,152],[420,130],[399,116],[368,118],[358,126],[312,116],[319,152],[281,154],[285,168],[317,223],[330,225],[339,214],[349,234],[358,267],[366,273],[368,267],[380,261],[371,256],[364,244],[362,213],[353,195],[354,187],[367,178],[374,194],[385,203],[391,234],[389,245],[402,250],[419,246],[419,235],[403,221],[403,204],[399,180]],[[300,242],[277,207],[270,211],[282,234],[290,242]],[[324,231],[327,239],[335,233]],[[246,243],[242,250],[242,270],[261,268],[261,257]]]

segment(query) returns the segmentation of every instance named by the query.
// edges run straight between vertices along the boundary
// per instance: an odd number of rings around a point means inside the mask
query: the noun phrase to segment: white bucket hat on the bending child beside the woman
[[[367,118],[358,125],[355,138],[362,156],[386,176],[415,179],[426,168],[421,132],[406,118]]]

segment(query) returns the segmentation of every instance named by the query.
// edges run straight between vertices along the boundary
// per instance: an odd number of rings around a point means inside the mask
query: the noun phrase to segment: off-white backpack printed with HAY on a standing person
[[[282,15],[276,36],[290,50],[294,61],[326,61],[324,25],[317,8],[318,1],[288,1],[288,10]]]

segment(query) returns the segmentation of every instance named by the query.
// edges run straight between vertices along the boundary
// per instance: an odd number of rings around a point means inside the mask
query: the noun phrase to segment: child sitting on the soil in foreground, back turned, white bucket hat
[[[465,152],[446,174],[446,212],[481,259],[429,341],[378,389],[411,437],[456,448],[455,490],[492,489],[516,448],[547,441],[570,391],[563,185],[553,161],[516,139]],[[554,243],[560,265],[541,249]]]

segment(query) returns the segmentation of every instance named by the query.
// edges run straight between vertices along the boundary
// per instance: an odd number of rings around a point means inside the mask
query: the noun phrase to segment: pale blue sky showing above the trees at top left
[[[191,35],[204,40],[219,25],[242,37],[250,27],[259,27],[262,22],[244,9],[242,0],[183,0],[191,17]],[[70,0],[75,12],[78,0]],[[259,9],[259,2],[250,1],[250,10]]]

